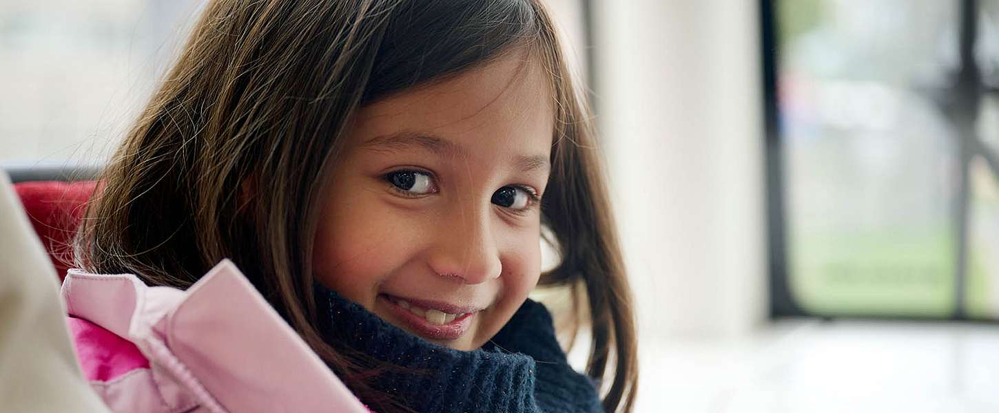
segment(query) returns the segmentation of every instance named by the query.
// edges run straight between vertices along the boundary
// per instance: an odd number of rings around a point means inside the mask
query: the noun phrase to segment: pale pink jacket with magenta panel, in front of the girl
[[[229,260],[187,291],[71,269],[62,295],[112,411],[368,412]]]

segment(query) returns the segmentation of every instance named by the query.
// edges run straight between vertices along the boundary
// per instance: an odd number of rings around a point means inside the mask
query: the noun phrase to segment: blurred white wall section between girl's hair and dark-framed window
[[[594,1],[596,112],[644,340],[765,320],[758,11]]]

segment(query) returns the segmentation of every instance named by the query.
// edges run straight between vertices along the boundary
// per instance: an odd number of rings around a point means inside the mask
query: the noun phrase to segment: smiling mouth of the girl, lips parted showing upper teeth
[[[404,329],[433,340],[455,340],[465,335],[481,310],[441,302],[407,299],[380,294]]]

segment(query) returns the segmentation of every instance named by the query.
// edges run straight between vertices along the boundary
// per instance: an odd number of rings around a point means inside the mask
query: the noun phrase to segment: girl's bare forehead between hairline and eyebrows
[[[554,128],[550,82],[527,53],[362,108],[351,139],[363,144],[400,132],[432,133],[486,151],[502,147],[547,154]]]

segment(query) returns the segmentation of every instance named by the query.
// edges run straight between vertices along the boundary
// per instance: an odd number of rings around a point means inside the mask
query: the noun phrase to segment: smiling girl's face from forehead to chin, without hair
[[[318,280],[430,341],[492,338],[540,273],[554,112],[511,53],[363,108],[321,210]]]

